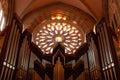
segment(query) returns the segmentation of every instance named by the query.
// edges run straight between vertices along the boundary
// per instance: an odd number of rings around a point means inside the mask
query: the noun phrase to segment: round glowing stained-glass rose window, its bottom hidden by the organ
[[[79,30],[68,23],[50,23],[35,34],[35,43],[44,54],[50,54],[57,43],[65,47],[65,53],[74,54],[81,45]]]

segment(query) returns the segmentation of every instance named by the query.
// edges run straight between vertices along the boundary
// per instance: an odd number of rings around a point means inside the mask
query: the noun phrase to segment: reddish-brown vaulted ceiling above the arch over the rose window
[[[96,20],[103,16],[102,0],[15,0],[15,11],[20,17],[46,5],[62,2],[91,15]]]

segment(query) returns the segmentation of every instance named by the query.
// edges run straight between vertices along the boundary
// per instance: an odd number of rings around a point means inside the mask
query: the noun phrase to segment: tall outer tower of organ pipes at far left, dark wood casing
[[[8,34],[5,39],[6,43],[3,47],[2,65],[0,80],[12,80],[13,74],[16,69],[16,61],[18,56],[18,49],[20,43],[20,36],[22,31],[22,25],[18,21],[16,16],[13,17],[12,25],[9,25]]]

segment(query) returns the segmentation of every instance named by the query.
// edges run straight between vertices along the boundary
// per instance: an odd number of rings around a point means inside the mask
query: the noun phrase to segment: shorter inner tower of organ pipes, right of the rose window
[[[87,35],[89,49],[87,51],[88,66],[91,80],[102,80],[100,62],[96,45],[96,36],[93,32]]]

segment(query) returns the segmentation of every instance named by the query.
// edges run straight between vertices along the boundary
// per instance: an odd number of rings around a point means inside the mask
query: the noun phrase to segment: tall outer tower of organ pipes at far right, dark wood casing
[[[110,30],[106,23],[103,21],[97,25],[97,39],[99,46],[99,54],[101,59],[101,69],[105,80],[119,80],[117,65],[113,52],[114,47],[111,45]],[[112,47],[113,48],[112,48]]]

